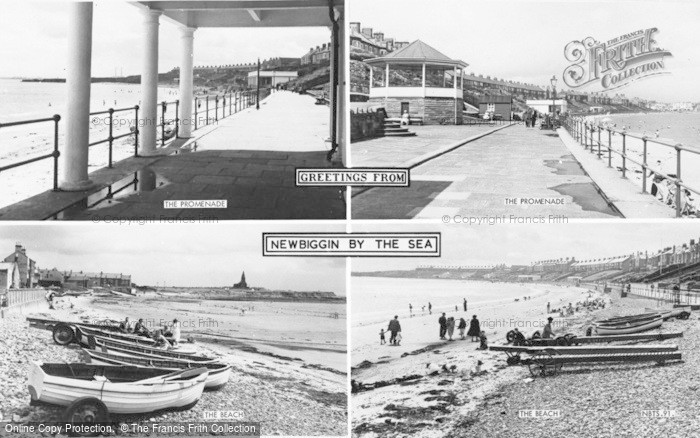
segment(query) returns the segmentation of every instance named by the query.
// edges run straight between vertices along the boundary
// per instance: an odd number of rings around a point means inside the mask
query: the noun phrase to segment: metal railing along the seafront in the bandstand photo
[[[583,117],[568,117],[564,119],[562,126],[569,132],[569,134],[584,147],[584,150],[590,151],[592,154],[595,153],[598,159],[603,159],[603,155],[607,153],[608,167],[612,168],[612,157],[613,154],[619,155],[621,158],[621,171],[622,178],[627,179],[627,172],[630,170],[628,168],[628,162],[634,163],[641,167],[642,169],[642,193],[648,193],[647,191],[647,174],[651,172],[652,175],[659,176],[661,178],[667,179],[673,183],[675,186],[675,210],[676,217],[682,217],[683,213],[687,207],[687,202],[683,202],[683,189],[700,195],[700,188],[694,188],[683,182],[681,179],[681,152],[685,151],[688,153],[700,155],[700,149],[691,148],[684,146],[681,143],[669,143],[666,141],[651,138],[646,135],[640,135],[632,132],[628,132],[624,129],[618,130],[613,129],[609,126],[603,126],[602,124],[596,124],[587,121]],[[605,132],[607,135],[602,135]],[[622,137],[622,149],[616,150],[613,147],[612,136],[620,135]],[[627,139],[635,138],[642,141],[642,161],[630,156],[627,153]],[[663,147],[672,148],[676,151],[676,173],[675,175],[666,174],[660,169],[653,168],[647,162],[649,158],[648,146],[649,143],[657,144]],[[685,205],[684,205],[685,204]]]

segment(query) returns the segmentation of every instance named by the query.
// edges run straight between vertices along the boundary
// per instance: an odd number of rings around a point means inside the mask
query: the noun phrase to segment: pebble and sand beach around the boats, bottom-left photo
[[[260,422],[263,435],[345,435],[347,431],[347,392],[346,374],[339,370],[340,360],[345,357],[344,337],[335,333],[335,328],[326,328],[307,315],[275,313],[273,309],[285,303],[236,303],[251,305],[255,309],[247,312],[245,322],[233,322],[227,309],[213,304],[202,311],[189,302],[177,300],[159,301],[156,308],[153,299],[136,297],[71,298],[74,308],[66,302],[59,304],[54,311],[32,315],[60,320],[100,320],[120,319],[128,313],[134,319],[139,316],[147,321],[156,321],[161,316],[172,319],[173,315],[183,321],[183,338],[194,338],[193,344],[198,353],[218,357],[231,364],[233,372],[229,383],[218,391],[207,391],[192,409],[182,412],[161,412],[155,414],[123,416],[119,422],[133,421],[201,421],[203,412],[230,410],[243,411],[245,421]],[[127,300],[132,300],[127,302]],[[220,302],[219,302],[220,303]],[[207,308],[207,303],[202,304]],[[341,305],[336,305],[340,307]],[[199,306],[198,306],[199,307]],[[216,315],[223,329],[213,327],[214,315],[208,313],[218,308]],[[276,315],[276,322],[265,324],[270,314]],[[167,315],[167,316],[166,316]],[[326,318],[330,321],[330,318]],[[184,327],[184,321],[201,321],[208,329],[192,330]],[[295,320],[313,324],[304,339],[296,339],[303,331]],[[343,327],[343,318],[332,323]],[[259,327],[263,326],[264,330]],[[237,327],[232,329],[229,327]],[[285,328],[291,328],[285,330]],[[217,332],[217,330],[221,330]],[[285,340],[272,340],[287,331]],[[219,336],[220,333],[220,336]],[[315,338],[311,334],[315,333]],[[329,333],[332,335],[329,336]],[[264,336],[258,336],[265,334]],[[323,339],[321,339],[323,337]],[[262,342],[257,343],[260,338]],[[330,340],[330,344],[325,341]],[[333,344],[333,340],[337,344]],[[296,344],[294,342],[296,341]],[[275,345],[273,345],[275,344]],[[289,348],[280,347],[289,345]],[[269,348],[268,348],[269,347]],[[343,351],[340,354],[339,351]],[[302,358],[303,356],[303,358]],[[324,358],[329,358],[324,360]],[[76,362],[81,361],[81,350],[76,345],[61,347],[53,343],[51,333],[28,328],[23,316],[10,316],[0,320],[0,420],[13,421],[55,421],[60,418],[63,408],[55,406],[30,406],[26,388],[27,369],[30,361]],[[343,359],[343,367],[344,367]],[[263,396],[264,395],[264,396]]]

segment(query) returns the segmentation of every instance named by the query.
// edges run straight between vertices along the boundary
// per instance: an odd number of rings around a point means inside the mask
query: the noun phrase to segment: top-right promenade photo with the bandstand
[[[700,9],[634,5],[354,2],[351,165],[411,185],[352,217],[698,217]]]

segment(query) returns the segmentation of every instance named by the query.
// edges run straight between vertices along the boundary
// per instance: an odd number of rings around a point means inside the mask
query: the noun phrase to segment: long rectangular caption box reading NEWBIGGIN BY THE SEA
[[[440,233],[263,233],[263,255],[440,257],[440,238]]]

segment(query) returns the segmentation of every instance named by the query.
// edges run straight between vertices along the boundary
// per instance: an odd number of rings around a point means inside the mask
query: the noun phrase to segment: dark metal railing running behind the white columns
[[[271,93],[271,89],[265,88],[260,90],[260,100],[264,99]],[[220,119],[228,117],[232,114],[236,114],[246,108],[256,105],[257,94],[255,91],[237,91],[218,95],[207,95],[207,96],[195,96],[194,98],[194,111],[193,111],[193,129],[197,130],[203,126],[210,125],[211,123],[216,123]],[[200,106],[204,102],[204,111],[202,112]],[[168,119],[166,115],[171,106],[175,107],[174,118]],[[175,100],[171,102],[161,102],[158,104],[159,115],[156,115],[156,119],[159,123],[156,125],[156,129],[159,129],[159,136],[156,137],[156,141],[160,143],[161,146],[165,146],[168,140],[174,140],[178,137],[180,133],[180,124],[182,123],[182,117],[180,116],[180,101]],[[228,110],[228,111],[227,111]],[[124,119],[115,118],[115,114],[133,111],[133,118],[129,118],[128,121]],[[212,114],[213,111],[213,114]],[[99,118],[100,116],[107,116],[103,121]],[[93,125],[100,124],[102,122],[107,124],[108,134],[106,138],[92,141],[88,144],[88,147],[98,146],[102,144],[108,145],[108,159],[107,167],[113,167],[114,165],[114,142],[123,138],[130,136],[134,137],[134,157],[138,157],[139,148],[139,106],[135,105],[132,107],[125,108],[109,108],[103,111],[96,111],[90,113],[91,123]],[[53,151],[51,153],[39,155],[36,157],[28,158],[26,160],[18,161],[16,163],[7,164],[0,166],[0,174],[2,172],[26,166],[38,161],[53,158],[53,190],[58,191],[58,157],[61,155],[59,151],[59,121],[61,116],[55,114],[53,117],[47,117],[43,119],[33,119],[33,120],[21,120],[8,123],[0,123],[0,129],[8,128],[12,126],[21,126],[29,124],[38,124],[53,122]],[[203,123],[202,123],[203,122]],[[173,125],[172,130],[168,130],[168,127]],[[127,125],[129,130],[124,133],[119,133],[115,135],[115,128],[117,126]]]

